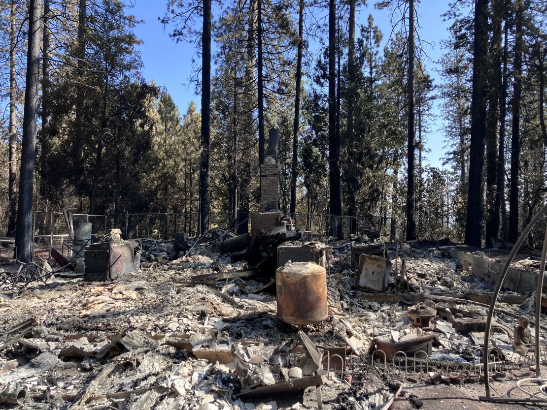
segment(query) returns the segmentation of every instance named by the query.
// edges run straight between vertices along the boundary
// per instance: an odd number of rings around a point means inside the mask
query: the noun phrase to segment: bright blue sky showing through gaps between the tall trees
[[[445,50],[441,48],[441,40],[448,38],[447,28],[450,21],[443,21],[441,15],[449,8],[448,1],[425,0],[417,6],[418,33],[426,45],[426,67],[434,79],[434,84],[440,83],[436,71],[436,61],[440,59]],[[137,19],[144,20],[143,24],[135,28],[135,33],[143,44],[139,46],[144,63],[144,77],[154,80],[159,86],[165,86],[173,97],[181,114],[184,114],[190,101],[200,106],[200,96],[195,95],[194,85],[190,83],[191,60],[196,57],[195,47],[187,42],[174,42],[168,35],[170,27],[164,26],[158,17],[165,13],[165,1],[161,0],[136,0],[135,7],[130,11]],[[374,3],[371,3],[374,4]],[[326,10],[325,10],[326,13]],[[391,11],[376,10],[373,5],[361,6],[357,9],[357,24],[366,24],[368,15],[372,14],[375,24],[383,33],[382,46],[388,42],[391,33]],[[319,17],[319,16],[318,16]],[[430,153],[426,154],[427,160],[433,166],[441,165],[441,157],[444,156],[443,134],[439,130],[442,120],[439,113],[440,101],[436,101],[433,113],[437,116],[432,122],[431,132],[427,135],[426,147]]]

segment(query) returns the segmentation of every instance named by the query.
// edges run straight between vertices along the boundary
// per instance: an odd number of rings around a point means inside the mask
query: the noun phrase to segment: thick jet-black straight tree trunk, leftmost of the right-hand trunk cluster
[[[471,98],[471,144],[469,149],[469,190],[465,243],[481,246],[482,167],[488,76],[488,0],[475,2],[473,40],[473,92]]]

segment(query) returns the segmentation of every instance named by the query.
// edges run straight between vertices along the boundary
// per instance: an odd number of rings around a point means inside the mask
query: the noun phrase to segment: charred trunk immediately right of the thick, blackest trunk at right
[[[492,40],[490,45],[490,78],[488,84],[488,113],[486,127],[486,246],[498,237],[499,209],[496,208],[498,183],[498,121],[502,75],[501,45],[504,0],[493,0]]]

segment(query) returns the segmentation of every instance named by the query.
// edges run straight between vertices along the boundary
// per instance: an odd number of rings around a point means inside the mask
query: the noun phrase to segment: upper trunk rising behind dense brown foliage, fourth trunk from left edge
[[[82,149],[84,144],[84,61],[85,61],[85,26],[87,24],[86,7],[87,0],[79,0],[78,7],[78,87],[76,95],[76,135],[74,138],[74,191],[78,193],[80,179],[83,174]]]

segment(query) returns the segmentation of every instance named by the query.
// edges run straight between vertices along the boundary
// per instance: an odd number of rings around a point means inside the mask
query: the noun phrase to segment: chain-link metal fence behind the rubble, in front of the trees
[[[224,212],[208,213],[209,228],[223,227],[238,232],[250,231],[249,214],[232,214]],[[327,243],[347,242],[352,233],[363,229],[380,231],[383,239],[389,239],[391,219],[379,216],[327,215],[319,213],[296,213],[293,215],[296,229],[304,229],[305,236]],[[187,213],[150,213],[119,215],[72,214],[74,221],[92,222],[92,237],[108,233],[110,229],[119,228],[126,239],[155,238],[170,239],[177,232],[187,232],[190,237],[199,232],[200,214]],[[50,249],[68,256],[66,247],[68,235],[65,216],[61,212],[33,213],[33,249],[34,254],[49,256]]]

